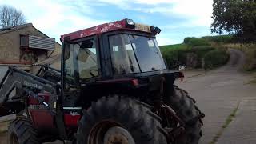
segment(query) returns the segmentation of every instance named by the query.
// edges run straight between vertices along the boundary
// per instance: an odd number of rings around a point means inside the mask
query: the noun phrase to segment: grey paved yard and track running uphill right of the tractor
[[[252,76],[241,72],[244,59],[241,51],[230,49],[226,66],[206,73],[186,71],[184,82],[176,82],[206,114],[200,143],[212,141],[238,103],[236,117],[217,143],[256,143],[256,85],[248,84]]]

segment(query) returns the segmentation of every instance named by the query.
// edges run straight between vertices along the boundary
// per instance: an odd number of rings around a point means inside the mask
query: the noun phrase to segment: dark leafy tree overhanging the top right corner
[[[256,42],[255,0],[214,0],[212,33],[236,34],[242,42]]]

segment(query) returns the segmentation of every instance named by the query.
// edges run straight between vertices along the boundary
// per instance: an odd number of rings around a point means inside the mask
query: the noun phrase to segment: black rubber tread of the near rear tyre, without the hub
[[[130,131],[136,143],[142,144],[166,144],[166,136],[159,130],[162,127],[155,114],[150,113],[150,106],[143,102],[138,102],[133,98],[111,95],[98,99],[94,106],[86,111],[86,117],[95,118],[94,124],[102,121],[103,118],[117,120]],[[94,114],[94,111],[101,114]],[[90,119],[89,118],[89,119]],[[86,118],[81,119],[78,126],[78,143],[86,142],[93,125],[88,126]]]

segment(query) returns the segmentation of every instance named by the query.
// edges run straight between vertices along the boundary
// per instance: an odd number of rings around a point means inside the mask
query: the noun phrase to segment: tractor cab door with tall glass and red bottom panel
[[[65,41],[65,40],[64,40]],[[84,106],[82,86],[101,78],[98,38],[64,42],[62,54],[62,109],[66,126],[76,127]]]

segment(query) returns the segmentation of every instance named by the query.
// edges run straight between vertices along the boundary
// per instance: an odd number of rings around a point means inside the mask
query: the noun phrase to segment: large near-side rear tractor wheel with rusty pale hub
[[[101,98],[84,110],[78,124],[78,144],[166,144],[158,116],[132,98]]]

